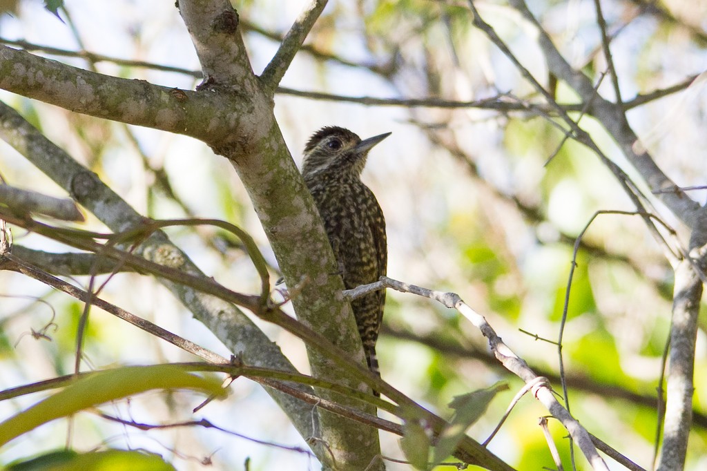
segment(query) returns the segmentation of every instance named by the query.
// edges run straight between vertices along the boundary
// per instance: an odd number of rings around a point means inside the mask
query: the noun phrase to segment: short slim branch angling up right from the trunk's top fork
[[[327,0],[310,0],[309,4],[300,13],[300,16],[295,20],[295,23],[293,23],[292,28],[285,35],[270,63],[265,67],[260,76],[260,81],[270,95],[275,93],[292,59],[295,58],[295,54],[302,47],[305,37],[309,34],[317,18],[322,14],[325,6],[327,6]]]

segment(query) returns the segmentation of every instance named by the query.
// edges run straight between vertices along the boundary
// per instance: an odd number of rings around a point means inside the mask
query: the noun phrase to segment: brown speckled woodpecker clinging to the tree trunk
[[[361,141],[349,129],[323,127],[305,146],[302,175],[314,197],[346,289],[385,275],[385,219],[373,192],[361,182],[368,151],[390,132]],[[368,368],[380,376],[375,342],[383,317],[385,290],[351,301]]]

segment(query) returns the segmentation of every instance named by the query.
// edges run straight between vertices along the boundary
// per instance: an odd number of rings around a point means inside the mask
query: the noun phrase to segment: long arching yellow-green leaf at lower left
[[[0,424],[0,446],[54,419],[75,414],[104,402],[152,389],[195,389],[224,397],[221,380],[203,378],[175,365],[126,366],[98,371],[38,402]]]

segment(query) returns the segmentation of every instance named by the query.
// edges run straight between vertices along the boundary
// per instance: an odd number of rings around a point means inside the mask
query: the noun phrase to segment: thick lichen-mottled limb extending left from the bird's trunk
[[[234,139],[233,128],[246,111],[235,95],[119,79],[2,45],[0,88],[85,115],[224,144]]]

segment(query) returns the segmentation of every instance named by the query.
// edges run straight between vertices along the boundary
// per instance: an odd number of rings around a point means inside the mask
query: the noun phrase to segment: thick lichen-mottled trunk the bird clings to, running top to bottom
[[[180,0],[180,12],[204,69],[206,80],[201,89],[216,96],[235,93],[247,107],[238,110],[240,121],[224,129],[230,139],[207,136],[204,140],[233,163],[288,285],[300,286],[292,300],[300,322],[363,366],[354,315],[341,297],[343,281],[332,275],[337,273],[334,253],[275,120],[271,91],[252,73],[238,32],[238,16],[226,0]],[[212,31],[216,26],[218,30]],[[228,31],[222,31],[226,27]],[[224,46],[224,41],[228,45]],[[233,50],[225,54],[224,47]],[[366,388],[361,380],[334,368],[332,359],[314,345],[307,344],[307,348],[312,376],[354,389]],[[331,398],[327,390],[319,393]],[[375,409],[370,407],[366,412],[375,414]],[[380,454],[375,429],[361,429],[356,422],[325,411],[320,413],[320,424],[326,446],[317,441],[314,450],[326,468],[360,470]]]

